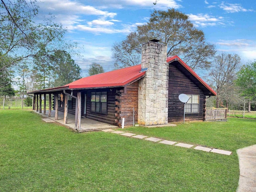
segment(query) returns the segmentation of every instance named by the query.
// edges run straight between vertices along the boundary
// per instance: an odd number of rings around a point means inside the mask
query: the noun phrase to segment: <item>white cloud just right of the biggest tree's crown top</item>
[[[189,20],[192,21],[196,27],[198,26],[215,26],[217,24],[220,24],[220,21],[222,21],[222,17],[213,17],[209,16],[208,14],[188,14]]]

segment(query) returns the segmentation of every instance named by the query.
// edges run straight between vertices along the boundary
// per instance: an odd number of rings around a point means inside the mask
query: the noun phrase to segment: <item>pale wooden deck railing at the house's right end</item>
[[[227,108],[207,108],[205,120],[225,121],[227,119]]]

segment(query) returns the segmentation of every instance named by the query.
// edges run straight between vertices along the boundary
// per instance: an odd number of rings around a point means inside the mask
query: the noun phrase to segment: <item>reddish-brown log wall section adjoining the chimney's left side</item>
[[[138,81],[126,87],[126,93],[120,94],[120,122],[124,118],[124,125],[133,124],[133,108],[135,112],[134,123],[138,123]]]

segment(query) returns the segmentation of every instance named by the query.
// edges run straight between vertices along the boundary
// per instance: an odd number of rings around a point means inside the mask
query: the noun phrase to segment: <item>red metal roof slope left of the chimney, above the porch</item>
[[[68,86],[70,89],[79,89],[125,86],[126,84],[129,84],[130,82],[145,75],[145,72],[140,71],[141,65],[126,67],[84,77],[72,83],[66,84],[64,87]]]

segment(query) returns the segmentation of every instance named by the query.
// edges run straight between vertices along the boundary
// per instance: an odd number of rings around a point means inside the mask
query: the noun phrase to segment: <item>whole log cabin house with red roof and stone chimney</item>
[[[151,40],[142,46],[142,63],[76,80],[70,84],[37,90],[33,109],[42,113],[41,95],[49,95],[49,116],[55,109],[76,115],[79,130],[81,117],[121,126],[168,124],[183,120],[184,104],[178,96],[187,94],[186,120],[205,120],[206,97],[216,96],[178,56],[166,58],[167,46]],[[38,105],[38,97],[40,104]],[[39,106],[39,109],[38,109]],[[44,104],[44,114],[46,106]],[[133,116],[134,114],[134,116]],[[134,118],[134,119],[133,119]]]

